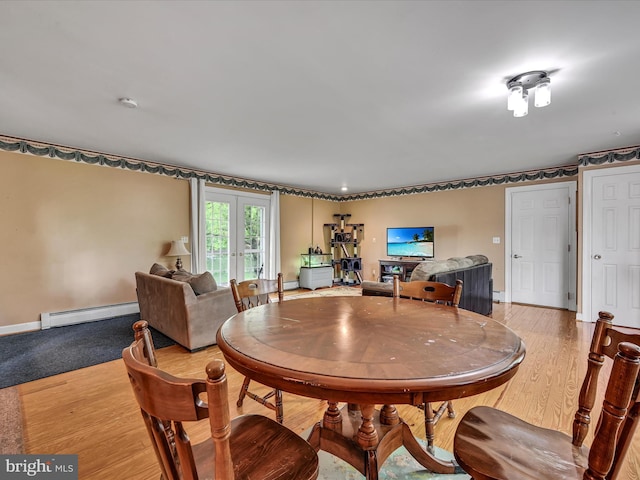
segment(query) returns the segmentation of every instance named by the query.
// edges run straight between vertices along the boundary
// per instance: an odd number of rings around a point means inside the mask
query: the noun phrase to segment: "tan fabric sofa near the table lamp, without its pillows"
[[[140,318],[190,351],[216,343],[222,323],[237,313],[229,287],[196,295],[188,282],[136,272]]]

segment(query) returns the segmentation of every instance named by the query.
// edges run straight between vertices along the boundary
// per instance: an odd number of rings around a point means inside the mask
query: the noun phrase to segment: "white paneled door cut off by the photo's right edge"
[[[591,285],[583,304],[590,304],[591,318],[605,310],[616,325],[640,328],[640,167],[585,172],[585,188],[591,224],[584,265]]]

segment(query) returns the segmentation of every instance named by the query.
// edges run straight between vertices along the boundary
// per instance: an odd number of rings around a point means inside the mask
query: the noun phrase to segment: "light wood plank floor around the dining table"
[[[509,383],[454,402],[458,417],[443,418],[436,428],[436,445],[442,448],[451,450],[459,418],[470,407],[481,404],[508,411],[534,424],[571,431],[593,324],[576,322],[572,312],[510,304],[494,305],[493,318],[524,339],[527,356]],[[193,354],[179,346],[158,351],[160,367],[183,376],[204,377],[205,364],[212,358],[222,358],[215,346]],[[237,409],[235,396],[242,378],[230,367],[227,375],[232,416],[254,412],[273,415],[251,400]],[[159,478],[122,360],[26,383],[19,386],[19,391],[25,453],[78,454],[79,475],[83,480]],[[601,387],[601,395],[603,391]],[[322,401],[287,394],[284,405],[285,424],[296,432],[320,420],[325,408]],[[423,437],[421,412],[411,406],[398,409],[414,433]],[[206,420],[193,427],[194,440],[208,433]],[[591,436],[587,443],[591,443]],[[629,452],[621,479],[640,479],[640,438],[636,438]]]

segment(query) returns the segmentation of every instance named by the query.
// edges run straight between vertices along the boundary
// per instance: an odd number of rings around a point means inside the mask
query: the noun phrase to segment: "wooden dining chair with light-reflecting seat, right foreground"
[[[573,436],[495,408],[474,407],[460,421],[453,445],[456,460],[469,475],[475,480],[618,478],[640,411],[640,335],[614,329],[612,319],[600,312],[596,323]],[[589,449],[583,441],[605,358],[614,359],[613,367]]]

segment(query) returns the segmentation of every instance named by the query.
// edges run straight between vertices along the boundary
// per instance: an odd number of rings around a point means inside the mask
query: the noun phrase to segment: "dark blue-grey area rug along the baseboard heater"
[[[0,337],[0,388],[110,362],[133,341],[139,314]],[[151,329],[156,348],[175,342]]]

